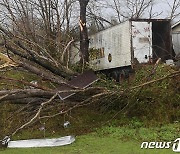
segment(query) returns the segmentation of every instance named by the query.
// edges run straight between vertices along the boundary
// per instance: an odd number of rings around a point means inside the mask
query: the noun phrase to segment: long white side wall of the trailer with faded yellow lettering
[[[131,65],[130,22],[124,22],[92,35],[89,48],[95,52],[103,52],[100,53],[100,57],[90,61],[95,70]]]

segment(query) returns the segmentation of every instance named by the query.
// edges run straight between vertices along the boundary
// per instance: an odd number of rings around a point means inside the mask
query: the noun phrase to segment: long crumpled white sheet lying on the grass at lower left
[[[36,147],[56,147],[71,144],[75,141],[73,136],[65,136],[53,139],[30,139],[9,141],[8,148],[36,148]]]

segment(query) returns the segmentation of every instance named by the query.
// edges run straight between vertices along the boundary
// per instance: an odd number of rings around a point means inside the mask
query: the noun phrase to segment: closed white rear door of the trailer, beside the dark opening
[[[132,21],[134,58],[147,63],[152,58],[152,22]]]

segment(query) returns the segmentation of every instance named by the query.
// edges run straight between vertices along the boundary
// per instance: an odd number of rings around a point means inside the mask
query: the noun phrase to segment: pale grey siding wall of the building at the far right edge
[[[173,38],[174,51],[175,51],[176,55],[180,54],[180,32],[173,33],[172,38]]]

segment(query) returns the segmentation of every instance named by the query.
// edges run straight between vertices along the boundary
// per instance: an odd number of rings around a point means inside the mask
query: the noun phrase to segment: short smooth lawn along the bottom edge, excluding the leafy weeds
[[[84,135],[76,137],[72,145],[55,148],[6,149],[1,154],[171,154],[168,150],[142,150],[141,143],[114,137]]]

